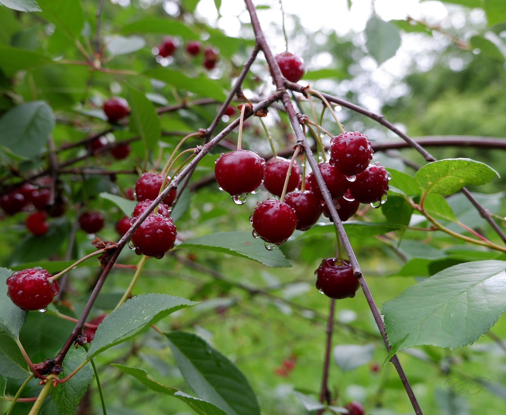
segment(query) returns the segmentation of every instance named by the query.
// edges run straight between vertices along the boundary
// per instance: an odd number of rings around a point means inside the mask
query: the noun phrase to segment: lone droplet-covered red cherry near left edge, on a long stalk
[[[39,267],[16,271],[7,279],[7,295],[23,310],[43,310],[60,291],[57,281],[51,281],[46,270]]]

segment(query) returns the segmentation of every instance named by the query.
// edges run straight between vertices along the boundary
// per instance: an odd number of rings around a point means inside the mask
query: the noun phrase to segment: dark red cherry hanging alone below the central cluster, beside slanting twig
[[[350,262],[344,259],[323,259],[315,271],[315,276],[316,288],[330,298],[354,297],[359,286]]]

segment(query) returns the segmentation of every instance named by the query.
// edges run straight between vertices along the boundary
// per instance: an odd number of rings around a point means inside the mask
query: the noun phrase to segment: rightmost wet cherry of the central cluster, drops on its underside
[[[390,174],[378,162],[369,165],[351,181],[350,193],[360,203],[375,203],[387,195]]]

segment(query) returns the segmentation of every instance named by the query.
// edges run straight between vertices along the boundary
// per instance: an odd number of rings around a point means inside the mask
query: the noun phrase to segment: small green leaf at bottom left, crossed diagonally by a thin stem
[[[71,373],[86,359],[86,351],[82,348],[70,348],[63,360],[63,373],[61,378]],[[67,382],[51,389],[51,396],[58,408],[58,415],[74,415],[77,404],[85,395],[88,385],[93,379],[91,363],[86,364]]]

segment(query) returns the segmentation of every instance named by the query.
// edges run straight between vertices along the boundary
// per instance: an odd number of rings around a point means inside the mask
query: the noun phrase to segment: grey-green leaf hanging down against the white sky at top
[[[367,22],[365,35],[367,36],[365,46],[378,65],[393,57],[401,46],[399,29],[375,16]]]

